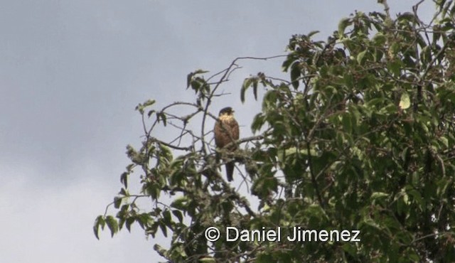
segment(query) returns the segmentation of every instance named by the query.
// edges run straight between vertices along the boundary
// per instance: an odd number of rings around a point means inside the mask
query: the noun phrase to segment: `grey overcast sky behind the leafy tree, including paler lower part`
[[[281,55],[295,33],[325,39],[376,2],[0,0],[0,262],[158,262],[137,226],[92,233],[120,188],[125,146],[141,141],[134,107],[191,100],[191,71]],[[390,0],[391,13],[416,2]],[[279,75],[281,62],[242,62],[213,113],[232,101],[249,133],[260,103],[241,104],[240,83]]]

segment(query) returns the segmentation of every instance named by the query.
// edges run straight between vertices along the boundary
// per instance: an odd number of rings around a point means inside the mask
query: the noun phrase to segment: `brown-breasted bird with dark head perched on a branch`
[[[239,139],[239,124],[234,118],[234,110],[231,107],[225,107],[220,110],[218,114],[218,119],[215,122],[215,127],[213,128],[215,134],[215,145],[218,149],[223,149],[225,146],[228,146],[225,150],[229,152],[235,151],[237,146],[232,143]],[[220,155],[217,153],[217,160],[220,159]],[[232,181],[232,173],[234,173],[234,161],[229,161],[225,164],[226,167],[226,176],[228,181]]]

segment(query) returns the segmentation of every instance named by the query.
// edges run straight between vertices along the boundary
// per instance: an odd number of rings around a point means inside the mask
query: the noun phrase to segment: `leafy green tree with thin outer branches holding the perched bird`
[[[455,4],[434,1],[425,22],[423,1],[394,18],[380,2],[384,12],[343,18],[327,41],[314,41],[317,32],[292,36],[283,63],[289,81],[264,73],[245,79],[241,100],[264,89],[262,112],[251,124],[255,136],[236,141],[223,162],[237,162],[235,176],[250,193],[220,173],[211,102],[237,63],[255,58],[237,58],[209,77],[189,74],[195,102],[139,104],[144,141],[127,147],[132,163],[112,203],[117,215],[98,216],[95,235],[134,223],[152,237],[161,231],[171,245],[155,249],[170,262],[454,262]],[[176,139],[156,138],[160,125]],[[139,194],[128,188],[135,168]],[[141,198],[153,208],[140,208]],[[281,227],[282,240],[228,241],[226,226]],[[208,227],[221,238],[208,242]],[[319,232],[319,241],[293,242],[284,238],[293,227],[359,230],[360,241],[323,242]]]

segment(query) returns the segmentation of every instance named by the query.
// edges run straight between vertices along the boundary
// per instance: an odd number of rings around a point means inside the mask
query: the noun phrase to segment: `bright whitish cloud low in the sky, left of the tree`
[[[102,173],[85,166],[85,173]],[[104,213],[116,186],[86,177],[68,186],[34,183],[32,168],[0,165],[0,262],[150,262],[153,241],[134,225],[111,238],[96,240],[95,217]],[[111,180],[117,183],[118,180]]]

